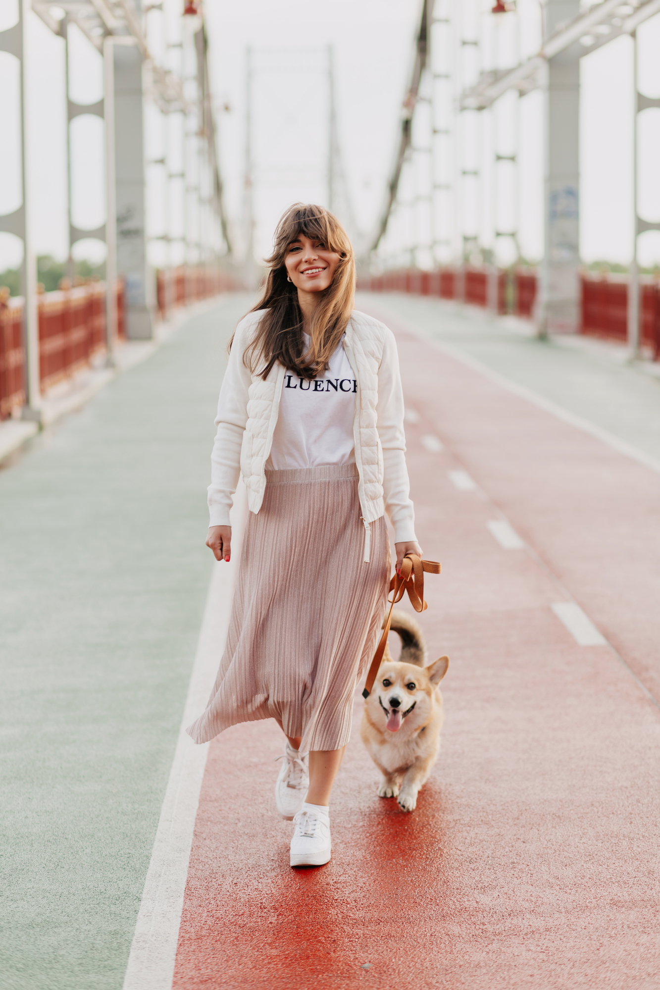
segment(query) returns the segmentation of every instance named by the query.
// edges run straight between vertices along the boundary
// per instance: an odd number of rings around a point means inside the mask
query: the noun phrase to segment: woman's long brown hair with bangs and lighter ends
[[[340,255],[331,284],[321,295],[309,331],[312,344],[304,354],[303,314],[298,289],[287,280],[287,249],[301,234]],[[339,221],[323,206],[296,203],[283,215],[274,237],[273,252],[259,302],[250,313],[266,310],[254,340],[245,348],[243,361],[251,371],[265,362],[259,376],[269,374],[279,361],[301,378],[316,378],[328,367],[353,311],[355,259],[348,236]]]

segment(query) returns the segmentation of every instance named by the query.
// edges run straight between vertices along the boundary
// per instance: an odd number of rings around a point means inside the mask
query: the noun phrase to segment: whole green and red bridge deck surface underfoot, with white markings
[[[623,987],[660,972],[660,382],[612,345],[402,293],[440,758],[376,796],[354,730],[333,852],[288,865],[274,724],[205,746],[236,569],[204,545],[227,342],[191,311],[0,471],[3,986]],[[236,506],[236,530],[244,518]]]

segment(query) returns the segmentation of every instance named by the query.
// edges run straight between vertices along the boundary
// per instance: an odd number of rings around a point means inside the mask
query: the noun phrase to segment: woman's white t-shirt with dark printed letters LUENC
[[[306,347],[311,338],[305,337]],[[286,471],[320,464],[354,464],[353,418],[357,381],[343,338],[323,378],[287,371],[266,468]]]

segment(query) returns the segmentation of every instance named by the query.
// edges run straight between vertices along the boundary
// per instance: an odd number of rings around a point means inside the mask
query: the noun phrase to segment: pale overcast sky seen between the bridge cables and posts
[[[167,0],[173,3],[174,0]],[[519,0],[530,4],[535,0]],[[14,0],[0,0],[11,20]],[[490,6],[486,4],[486,6]],[[228,212],[242,233],[245,49],[252,49],[253,153],[257,253],[267,252],[272,229],[292,201],[327,200],[328,49],[333,52],[339,144],[358,226],[373,227],[384,196],[410,73],[419,18],[417,0],[207,0],[212,82],[220,124]],[[150,15],[152,18],[158,15]],[[33,15],[30,20],[32,225],[39,253],[66,254],[66,140],[63,45]],[[660,96],[660,16],[646,34],[644,85]],[[655,37],[655,41],[653,38]],[[653,50],[656,54],[653,56]],[[74,50],[78,98],[101,95],[100,57],[84,41]],[[18,203],[16,74],[0,53],[0,212]],[[582,59],[581,194],[585,260],[626,262],[632,232],[632,56],[629,39]],[[654,87],[657,92],[654,92]],[[227,105],[230,109],[225,111]],[[521,101],[521,241],[523,253],[540,253],[540,100]],[[655,114],[655,121],[652,115]],[[660,220],[660,110],[647,111],[642,141],[645,211]],[[103,220],[101,122],[76,122],[74,200],[85,227]],[[657,214],[657,215],[656,215]],[[81,226],[83,226],[81,224]],[[649,235],[642,260],[660,261],[659,236]],[[84,246],[83,246],[84,247]],[[0,270],[16,251],[0,236]]]

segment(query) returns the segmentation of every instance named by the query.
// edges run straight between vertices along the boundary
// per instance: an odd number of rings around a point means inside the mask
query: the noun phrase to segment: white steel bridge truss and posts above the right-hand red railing
[[[400,140],[383,211],[370,242],[372,266],[463,265],[475,255],[488,263],[507,251],[509,263],[519,257],[519,105],[515,97],[538,89],[544,118],[544,250],[538,332],[575,331],[579,310],[579,60],[628,36],[635,46],[636,66],[636,30],[659,12],[660,0],[601,0],[587,9],[580,0],[545,0],[540,49],[520,58],[515,2],[424,0]],[[660,107],[660,100],[638,91],[636,69],[634,98],[637,114]],[[501,111],[507,101],[509,119],[503,127]],[[478,120],[484,111],[489,114],[480,128]],[[645,231],[660,230],[660,224],[639,216],[637,130],[634,252],[628,292],[628,343],[635,356],[640,345],[637,239]],[[488,176],[481,173],[474,150],[484,141],[493,158]],[[514,189],[507,209],[502,203],[505,186],[510,192]],[[493,247],[488,250],[480,237],[484,217],[492,232]],[[388,230],[395,222],[400,228],[408,226],[393,239],[407,241],[403,253],[388,250]],[[496,298],[494,265],[492,274]]]

